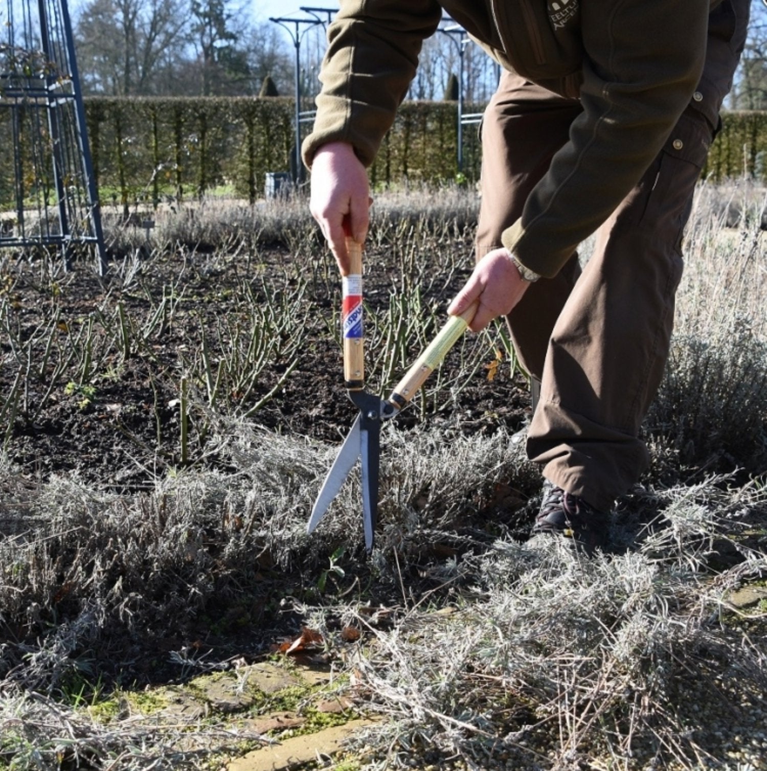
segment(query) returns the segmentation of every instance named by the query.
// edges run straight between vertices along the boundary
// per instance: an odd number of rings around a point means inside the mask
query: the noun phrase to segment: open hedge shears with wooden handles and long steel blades
[[[389,399],[365,391],[365,356],[362,337],[362,246],[346,239],[349,274],[342,279],[341,324],[344,345],[344,382],[349,399],[359,409],[338,455],[325,477],[307,527],[311,533],[325,515],[331,501],[360,461],[362,469],[362,516],[365,547],[372,551],[375,515],[378,508],[378,468],[380,465],[381,425],[392,419],[415,396],[432,371],[466,331],[476,312],[473,303],[459,316],[450,316],[436,338],[427,346],[407,374],[395,385]]]

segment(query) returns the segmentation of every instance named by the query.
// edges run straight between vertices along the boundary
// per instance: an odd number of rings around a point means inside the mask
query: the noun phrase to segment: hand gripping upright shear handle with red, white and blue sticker
[[[309,209],[328,241],[341,275],[348,275],[346,237],[358,244],[368,234],[370,204],[368,173],[352,145],[330,142],[320,147],[311,164]]]

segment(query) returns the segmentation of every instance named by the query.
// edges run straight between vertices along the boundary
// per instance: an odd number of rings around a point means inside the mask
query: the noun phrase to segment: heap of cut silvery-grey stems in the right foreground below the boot
[[[354,662],[387,715],[368,742],[389,753],[372,767],[407,767],[412,752],[472,769],[759,759],[767,628],[763,615],[725,621],[723,598],[767,562],[746,550],[716,577],[705,564],[714,512],[763,508],[765,494],[736,504],[714,482],[667,490],[668,527],[611,558],[500,540],[461,567],[475,588],[453,614],[401,608],[393,630],[374,630]]]

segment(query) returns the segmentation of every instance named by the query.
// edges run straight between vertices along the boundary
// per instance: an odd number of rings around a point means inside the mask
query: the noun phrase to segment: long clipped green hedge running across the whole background
[[[371,169],[372,183],[455,179],[456,110],[451,102],[404,103]],[[466,113],[480,110],[465,106]],[[267,173],[291,170],[294,106],[287,97],[91,97],[86,116],[102,201],[126,210],[136,200],[197,197],[220,185],[254,201],[264,194]],[[464,130],[469,181],[479,177],[477,129]],[[0,141],[12,141],[8,122],[0,121]],[[726,113],[711,147],[705,176],[744,173],[767,178],[767,113]],[[0,187],[8,194],[11,180],[5,181]]]

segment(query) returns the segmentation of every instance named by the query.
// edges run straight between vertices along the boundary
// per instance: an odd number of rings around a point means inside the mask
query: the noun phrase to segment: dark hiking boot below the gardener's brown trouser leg
[[[610,522],[607,514],[597,511],[580,495],[567,493],[551,483],[547,483],[544,490],[530,537],[546,534],[571,538],[586,554],[604,549]]]

